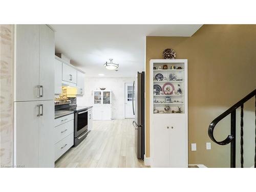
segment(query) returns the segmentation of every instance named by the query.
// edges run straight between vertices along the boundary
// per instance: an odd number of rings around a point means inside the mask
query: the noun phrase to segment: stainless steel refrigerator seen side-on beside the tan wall
[[[133,82],[133,114],[135,115],[133,126],[135,127],[135,151],[138,159],[144,159],[145,154],[144,76],[144,71],[138,72]]]

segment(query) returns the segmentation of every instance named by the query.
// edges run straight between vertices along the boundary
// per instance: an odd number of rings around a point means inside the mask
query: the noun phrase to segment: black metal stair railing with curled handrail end
[[[255,97],[255,152],[254,152],[254,167],[256,168],[256,89],[231,106],[224,113],[215,118],[208,127],[208,135],[212,141],[219,145],[227,145],[230,143],[230,167],[236,167],[236,110],[241,107],[241,121],[240,121],[240,155],[241,155],[241,167],[244,167],[244,103],[250,98]],[[223,141],[217,141],[214,137],[214,129],[216,124],[230,114],[230,135]]]

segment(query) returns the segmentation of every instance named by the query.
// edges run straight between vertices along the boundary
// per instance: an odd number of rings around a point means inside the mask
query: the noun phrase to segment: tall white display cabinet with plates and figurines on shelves
[[[187,114],[187,59],[151,59],[151,167],[188,166]]]

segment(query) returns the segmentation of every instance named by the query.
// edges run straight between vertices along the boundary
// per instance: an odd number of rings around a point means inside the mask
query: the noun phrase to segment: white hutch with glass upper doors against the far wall
[[[93,120],[112,119],[112,91],[94,91]]]

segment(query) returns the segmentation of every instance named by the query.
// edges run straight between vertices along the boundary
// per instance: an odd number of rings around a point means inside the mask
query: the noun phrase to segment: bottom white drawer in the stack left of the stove
[[[74,133],[68,135],[64,139],[60,140],[57,142],[54,147],[55,147],[55,161],[65,152],[69,150],[70,147],[74,145]]]

